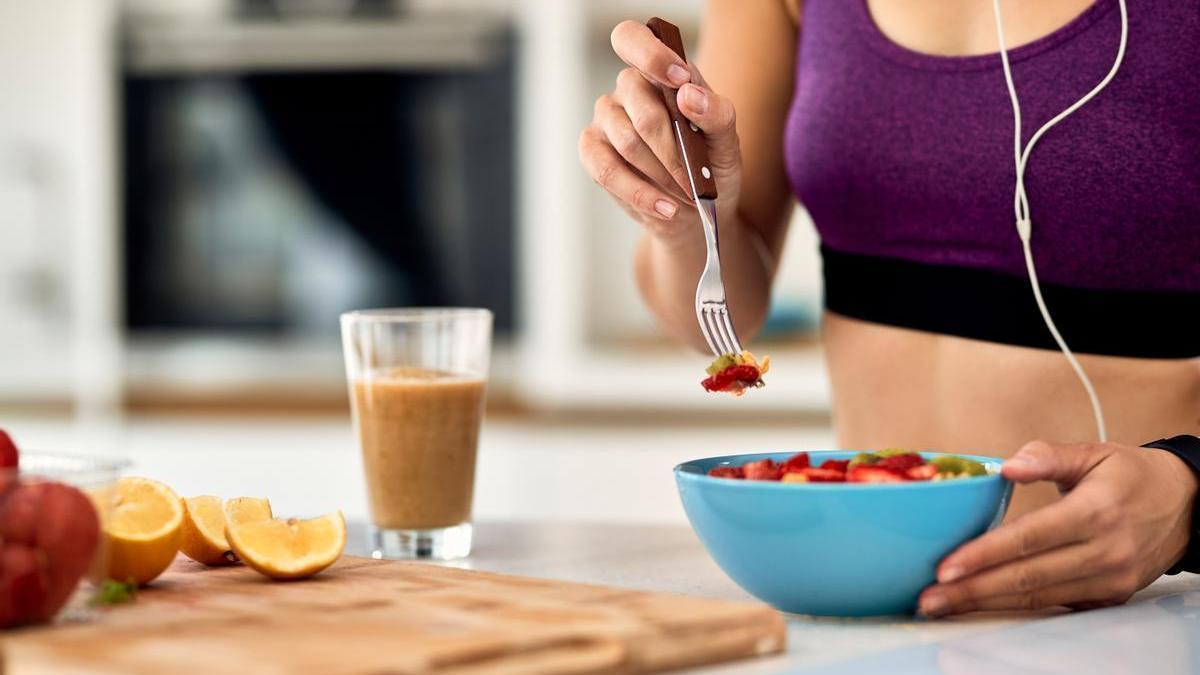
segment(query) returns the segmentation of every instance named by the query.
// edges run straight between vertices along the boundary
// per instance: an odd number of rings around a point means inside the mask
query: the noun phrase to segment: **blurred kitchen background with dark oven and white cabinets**
[[[828,447],[797,214],[769,386],[698,387],[576,157],[658,14],[701,0],[4,0],[0,426],[184,494],[365,514],[337,315],[496,312],[480,519],[682,519],[691,456]]]

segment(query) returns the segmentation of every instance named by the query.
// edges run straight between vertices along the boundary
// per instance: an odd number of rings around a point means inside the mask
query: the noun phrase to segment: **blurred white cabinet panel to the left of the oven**
[[[0,398],[119,396],[108,0],[0,2]]]

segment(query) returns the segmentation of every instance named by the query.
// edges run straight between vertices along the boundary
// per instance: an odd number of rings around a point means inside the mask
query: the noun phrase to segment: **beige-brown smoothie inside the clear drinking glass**
[[[484,380],[395,369],[353,389],[374,525],[432,530],[469,521]]]

